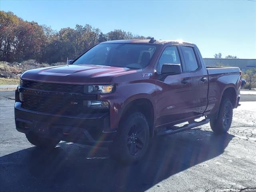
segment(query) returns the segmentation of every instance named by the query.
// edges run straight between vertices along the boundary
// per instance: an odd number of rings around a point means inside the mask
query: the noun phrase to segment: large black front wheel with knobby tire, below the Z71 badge
[[[132,164],[146,154],[148,143],[148,121],[142,113],[134,112],[120,122],[117,136],[109,147],[109,152],[118,162]]]

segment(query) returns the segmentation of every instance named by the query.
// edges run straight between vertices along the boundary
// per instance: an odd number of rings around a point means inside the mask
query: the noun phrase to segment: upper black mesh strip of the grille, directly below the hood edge
[[[84,92],[83,85],[44,83],[44,82],[22,80],[21,86],[24,88],[44,90],[49,92],[61,92],[61,93],[72,93],[72,94],[82,94]]]

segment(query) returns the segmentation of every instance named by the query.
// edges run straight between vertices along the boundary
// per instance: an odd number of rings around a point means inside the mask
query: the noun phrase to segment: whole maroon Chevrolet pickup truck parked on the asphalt
[[[206,67],[195,44],[102,42],[66,66],[22,74],[16,129],[40,148],[60,140],[107,146],[129,164],[144,156],[154,136],[208,122],[216,134],[227,132],[240,86],[239,68]]]

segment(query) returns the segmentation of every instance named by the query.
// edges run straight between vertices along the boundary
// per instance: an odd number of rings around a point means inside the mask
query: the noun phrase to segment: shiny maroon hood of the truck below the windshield
[[[136,70],[101,65],[68,65],[39,68],[24,72],[21,79],[62,84],[109,84],[114,76]]]

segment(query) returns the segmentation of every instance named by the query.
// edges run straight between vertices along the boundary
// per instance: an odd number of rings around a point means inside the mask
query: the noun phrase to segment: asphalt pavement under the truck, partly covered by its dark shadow
[[[38,150],[14,125],[14,92],[0,92],[1,192],[256,191],[256,95],[242,95],[228,134],[209,124],[155,137],[145,158],[119,166],[106,148],[61,142]]]

